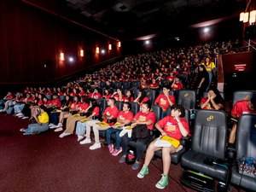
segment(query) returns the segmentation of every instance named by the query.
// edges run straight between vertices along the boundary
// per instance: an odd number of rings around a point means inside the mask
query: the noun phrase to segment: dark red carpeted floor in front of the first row
[[[0,191],[160,191],[154,184],[160,179],[161,160],[149,166],[149,174],[137,178],[137,172],[108,148],[91,151],[77,137],[60,138],[52,130],[23,136],[20,128],[28,120],[0,114]],[[179,183],[181,167],[172,165],[165,191],[194,191]]]

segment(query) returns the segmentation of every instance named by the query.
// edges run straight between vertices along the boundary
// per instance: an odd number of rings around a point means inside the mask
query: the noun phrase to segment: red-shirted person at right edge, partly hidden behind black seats
[[[238,101],[234,105],[231,111],[231,117],[233,119],[239,119],[242,114],[255,114],[256,113],[256,96],[253,97],[250,101],[243,100]],[[236,141],[236,123],[234,123],[232,130],[230,131],[229,143],[230,145],[234,144]]]

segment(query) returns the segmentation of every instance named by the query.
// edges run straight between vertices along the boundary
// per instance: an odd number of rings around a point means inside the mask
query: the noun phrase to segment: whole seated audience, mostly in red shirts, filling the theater
[[[189,122],[183,118],[185,109],[176,103],[179,90],[189,88],[188,79],[192,73],[201,75],[197,86],[197,109],[224,110],[224,98],[215,86],[211,86],[215,70],[213,60],[217,54],[218,44],[205,44],[188,49],[168,49],[128,56],[124,61],[86,74],[84,78],[63,87],[26,87],[16,94],[8,92],[0,101],[0,109],[2,113],[13,113],[19,118],[32,120],[27,128],[20,129],[24,135],[49,129],[62,131],[61,138],[75,133],[80,144],[94,141],[91,150],[102,147],[100,132],[105,131],[109,153],[113,156],[122,153],[120,163],[127,159],[129,143],[146,146],[143,167],[137,174],[140,178],[148,174],[148,165],[154,152],[162,150],[163,174],[155,186],[164,189],[168,184],[170,154],[176,153],[179,146],[159,145],[157,134],[152,130],[159,131],[160,136],[167,135],[177,140],[191,135],[193,131],[190,130]],[[138,84],[132,87],[131,84],[125,86],[124,82]],[[149,98],[146,90],[154,90],[155,97]],[[98,102],[103,100],[108,103],[108,107],[101,108]],[[123,107],[117,108],[116,102],[123,102]],[[132,103],[139,105],[135,113],[131,112]],[[160,119],[152,110],[153,105],[160,107]],[[255,113],[255,105],[255,98],[237,102],[231,115],[238,119],[242,113]],[[170,113],[167,113],[169,108]],[[230,132],[230,143],[235,143],[235,135],[236,125]],[[132,165],[134,170],[142,164],[144,148],[137,147],[136,154]]]

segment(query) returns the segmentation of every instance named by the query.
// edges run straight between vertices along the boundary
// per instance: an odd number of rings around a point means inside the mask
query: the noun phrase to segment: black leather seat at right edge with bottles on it
[[[256,158],[256,115],[243,114],[238,120],[236,131],[236,159],[241,157]],[[249,177],[232,166],[231,181],[246,190],[256,191],[256,177]]]

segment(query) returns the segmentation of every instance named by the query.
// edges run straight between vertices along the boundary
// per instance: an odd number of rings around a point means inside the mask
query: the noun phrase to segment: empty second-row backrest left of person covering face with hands
[[[195,90],[178,90],[177,104],[183,108],[194,109],[195,102]]]

